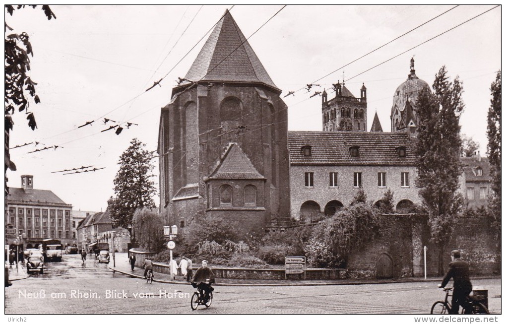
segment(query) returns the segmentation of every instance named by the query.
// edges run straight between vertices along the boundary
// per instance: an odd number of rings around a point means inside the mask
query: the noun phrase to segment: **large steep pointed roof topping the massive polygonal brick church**
[[[185,78],[190,81],[263,83],[278,89],[228,10],[210,34]]]

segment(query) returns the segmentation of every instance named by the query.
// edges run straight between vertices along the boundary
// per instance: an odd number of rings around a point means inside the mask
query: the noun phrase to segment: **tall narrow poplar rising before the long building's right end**
[[[418,139],[415,143],[416,186],[429,214],[431,239],[438,248],[438,272],[443,274],[443,257],[457,215],[463,206],[458,192],[460,162],[459,118],[464,109],[462,84],[458,76],[450,82],[443,66],[430,89],[418,95]]]

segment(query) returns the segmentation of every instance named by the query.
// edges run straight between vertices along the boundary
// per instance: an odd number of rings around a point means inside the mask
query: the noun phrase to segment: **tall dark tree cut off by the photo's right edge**
[[[492,194],[489,197],[488,210],[493,217],[492,228],[497,244],[497,253],[501,253],[501,71],[497,72],[495,82],[490,87],[492,99],[488,109],[488,160],[492,176]],[[500,266],[500,257],[497,260]]]

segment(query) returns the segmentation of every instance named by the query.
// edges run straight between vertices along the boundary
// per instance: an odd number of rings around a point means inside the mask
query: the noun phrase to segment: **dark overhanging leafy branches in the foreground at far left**
[[[17,6],[17,9],[24,8],[25,5]],[[29,7],[36,8],[36,5]],[[13,15],[16,8],[12,5],[5,6],[9,15]],[[48,20],[56,19],[55,14],[51,11],[49,6],[42,6],[42,10]],[[29,41],[29,36],[26,32],[20,34],[12,33],[7,35],[7,30],[13,31],[7,21],[5,22],[5,208],[7,215],[7,195],[9,194],[9,187],[7,186],[7,169],[16,171],[16,165],[11,161],[9,152],[10,131],[13,130],[14,120],[12,115],[16,110],[25,111],[26,119],[28,119],[28,127],[35,130],[37,124],[32,112],[28,111],[30,101],[28,98],[32,97],[33,102],[39,103],[40,99],[35,94],[35,85],[27,72],[30,70],[29,56],[33,56],[32,47]]]

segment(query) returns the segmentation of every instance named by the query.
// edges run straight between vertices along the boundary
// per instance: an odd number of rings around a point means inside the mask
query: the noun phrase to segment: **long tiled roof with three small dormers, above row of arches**
[[[311,146],[311,156],[302,147]],[[359,147],[353,157],[350,148]],[[405,156],[397,148],[405,147]],[[413,166],[414,142],[406,133],[368,132],[288,132],[291,165],[382,165]]]

